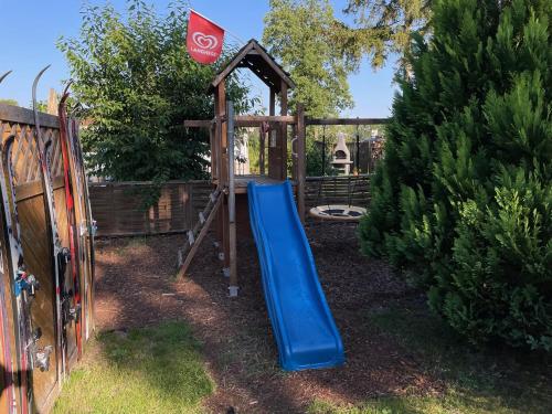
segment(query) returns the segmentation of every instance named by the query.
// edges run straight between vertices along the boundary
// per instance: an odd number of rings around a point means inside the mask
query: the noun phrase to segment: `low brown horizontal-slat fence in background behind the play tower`
[[[208,202],[210,181],[169,181],[160,188],[157,204],[146,208],[150,182],[89,183],[92,212],[98,236],[129,236],[184,232],[195,224]],[[306,209],[317,204],[370,202],[370,178],[309,177],[306,181]]]

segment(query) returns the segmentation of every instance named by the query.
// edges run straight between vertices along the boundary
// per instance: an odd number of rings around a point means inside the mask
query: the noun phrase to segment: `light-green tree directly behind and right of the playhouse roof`
[[[296,83],[290,100],[311,116],[352,107],[347,76],[353,66],[333,42],[333,10],[328,0],[270,0],[263,43]]]

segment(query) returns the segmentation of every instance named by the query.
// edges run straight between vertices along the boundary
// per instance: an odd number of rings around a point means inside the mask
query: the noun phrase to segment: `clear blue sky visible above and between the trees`
[[[31,102],[31,84],[36,73],[46,64],[52,67],[44,74],[39,99],[45,99],[47,89],[60,91],[62,81],[68,77],[68,68],[55,43],[61,35],[76,36],[81,25],[83,0],[0,0],[3,32],[0,36],[0,73],[13,73],[0,85],[0,97],[12,98],[20,105]],[[170,0],[155,1],[159,11],[164,11]],[[89,0],[88,3],[105,3],[105,0]],[[125,0],[112,0],[119,10]],[[268,0],[192,0],[191,7],[209,17],[243,40],[262,39],[263,18],[268,11]],[[346,1],[332,1],[341,15]],[[11,51],[11,52],[10,52]],[[374,72],[363,62],[359,73],[349,78],[355,107],[344,116],[386,117],[394,93],[393,62]],[[253,79],[252,79],[253,81]],[[257,82],[254,92],[266,95]]]

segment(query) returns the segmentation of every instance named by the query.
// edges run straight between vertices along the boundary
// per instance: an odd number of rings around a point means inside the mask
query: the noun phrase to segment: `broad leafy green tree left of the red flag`
[[[213,116],[206,89],[219,67],[188,55],[185,7],[177,1],[159,15],[129,0],[120,15],[112,6],[86,6],[79,36],[60,40],[81,117],[92,123],[82,139],[95,174],[153,182],[205,174],[209,137],[185,130],[182,121]],[[229,82],[229,98],[244,110],[247,89],[235,81]]]

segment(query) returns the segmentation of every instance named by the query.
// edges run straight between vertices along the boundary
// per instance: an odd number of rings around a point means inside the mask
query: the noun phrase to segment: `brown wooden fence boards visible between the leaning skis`
[[[62,318],[62,300],[59,299],[63,299],[63,295],[56,297],[56,276],[53,261],[54,254],[57,255],[60,250],[67,248],[68,251],[71,235],[65,203],[60,121],[56,116],[40,114],[40,124],[42,139],[47,148],[46,158],[53,182],[54,219],[60,240],[60,244],[55,247],[52,243],[50,215],[39,166],[39,148],[34,138],[33,113],[30,109],[0,104],[0,138],[4,141],[8,137],[14,136],[10,157],[14,176],[14,199],[21,227],[24,264],[26,270],[33,274],[40,284],[30,307],[32,323],[35,329],[34,333],[39,337],[38,348],[47,349],[47,347],[52,347],[54,350],[50,354],[50,369],[40,370],[35,367],[31,373],[33,408],[36,412],[49,412],[59,394],[62,378],[76,361],[78,351],[76,322],[65,317],[63,319],[66,323],[63,329],[59,329],[56,323]],[[87,223],[91,215],[85,212],[87,203],[86,179],[84,170],[82,172],[77,171],[77,156],[75,155],[75,141],[77,139],[75,134],[70,137],[70,141],[73,140],[72,144],[70,142],[70,170],[76,204],[75,215],[77,224],[89,227]],[[87,316],[85,320],[92,320],[92,235],[85,231],[79,231],[77,238],[78,248],[76,248],[76,253],[78,257],[71,257],[71,259],[78,261],[77,280],[81,282],[79,285],[91,287],[87,293],[87,300],[85,300],[87,308],[83,309],[82,312]],[[55,257],[57,259],[62,255]],[[62,282],[61,285],[66,287],[67,302],[73,300],[74,305],[75,286],[71,264],[62,267],[65,268],[60,282]],[[67,309],[64,309],[66,314]],[[9,319],[6,320],[9,322]],[[93,325],[91,323],[87,325],[86,329],[83,328],[85,338],[89,337]],[[13,332],[13,329],[10,329]],[[63,348],[62,343],[64,344]],[[1,403],[2,401],[0,401]]]

